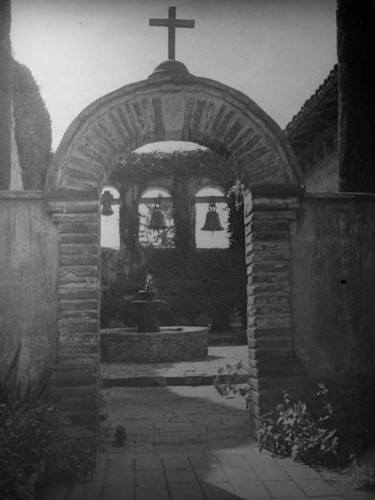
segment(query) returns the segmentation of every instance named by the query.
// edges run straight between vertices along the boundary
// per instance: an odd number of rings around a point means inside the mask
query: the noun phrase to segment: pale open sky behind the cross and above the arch
[[[177,29],[176,59],[242,91],[282,128],[337,59],[335,0],[12,0],[13,54],[40,87],[54,150],[86,106],[167,59],[167,29],[149,19],[169,6],[195,20]]]

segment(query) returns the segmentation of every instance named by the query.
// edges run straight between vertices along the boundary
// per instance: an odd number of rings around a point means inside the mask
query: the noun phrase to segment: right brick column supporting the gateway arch
[[[286,376],[293,359],[290,223],[298,201],[249,191],[244,200],[250,418],[256,429],[275,403],[270,379]]]

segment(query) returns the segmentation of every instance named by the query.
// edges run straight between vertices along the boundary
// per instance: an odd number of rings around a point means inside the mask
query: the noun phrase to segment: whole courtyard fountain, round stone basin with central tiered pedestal
[[[202,359],[207,355],[208,328],[159,326],[164,300],[156,298],[154,280],[147,275],[143,290],[131,301],[136,328],[101,330],[101,361],[108,363],[164,363]]]

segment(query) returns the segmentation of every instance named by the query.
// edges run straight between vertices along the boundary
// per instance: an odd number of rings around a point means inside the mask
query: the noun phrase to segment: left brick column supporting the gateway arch
[[[51,396],[64,412],[68,435],[93,440],[99,425],[100,214],[98,198],[82,198],[49,201],[59,235],[59,344]]]

